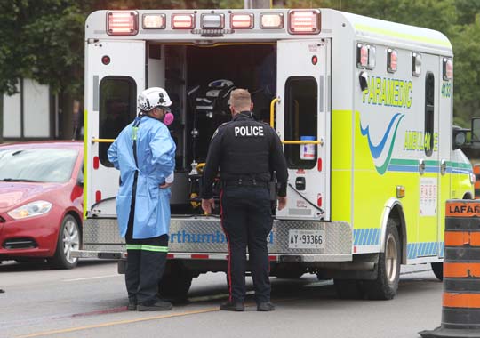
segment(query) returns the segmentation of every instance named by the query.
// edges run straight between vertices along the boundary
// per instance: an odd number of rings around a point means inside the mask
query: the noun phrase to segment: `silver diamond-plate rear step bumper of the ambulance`
[[[323,243],[308,246],[292,244],[292,236],[300,237],[300,234],[321,235]],[[124,238],[120,237],[114,218],[84,220],[82,239],[85,251],[125,251]],[[353,231],[346,221],[275,220],[267,245],[269,254],[282,256],[285,262],[351,261]],[[175,254],[174,258],[187,254],[182,258],[192,259],[195,254],[200,259],[225,259],[228,253],[227,238],[220,220],[214,217],[172,217],[168,247],[169,253]],[[221,258],[216,258],[219,255]]]

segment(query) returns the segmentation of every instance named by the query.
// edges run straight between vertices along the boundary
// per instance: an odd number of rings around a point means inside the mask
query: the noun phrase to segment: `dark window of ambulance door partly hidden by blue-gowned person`
[[[132,77],[108,76],[100,82],[100,139],[115,139],[135,117],[137,85]],[[113,166],[107,157],[110,143],[99,144],[100,163]]]

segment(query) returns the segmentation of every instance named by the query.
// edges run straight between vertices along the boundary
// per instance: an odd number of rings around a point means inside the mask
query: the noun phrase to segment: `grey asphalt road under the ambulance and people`
[[[251,279],[249,287],[252,289]],[[274,312],[219,311],[225,275],[194,279],[188,302],[172,311],[126,310],[115,262],[84,261],[75,270],[39,264],[0,265],[0,337],[419,337],[440,325],[442,283],[429,265],[403,267],[393,301],[340,300],[331,281],[313,275],[272,278]]]

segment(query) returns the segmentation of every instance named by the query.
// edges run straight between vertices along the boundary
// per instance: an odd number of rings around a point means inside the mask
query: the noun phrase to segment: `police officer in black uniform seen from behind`
[[[212,182],[220,167],[220,216],[228,240],[228,302],[220,310],[243,311],[245,249],[248,245],[257,310],[275,310],[270,302],[267,237],[273,225],[268,182],[276,171],[278,209],[286,205],[287,167],[282,144],[269,125],[252,117],[250,93],[230,94],[232,121],[213,134],[206,165],[202,208],[212,213]]]

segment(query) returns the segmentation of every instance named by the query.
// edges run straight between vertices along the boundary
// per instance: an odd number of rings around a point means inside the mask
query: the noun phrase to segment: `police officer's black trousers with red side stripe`
[[[220,213],[228,240],[230,301],[244,302],[248,246],[256,302],[269,302],[267,237],[273,220],[267,185],[224,187],[220,193]]]

